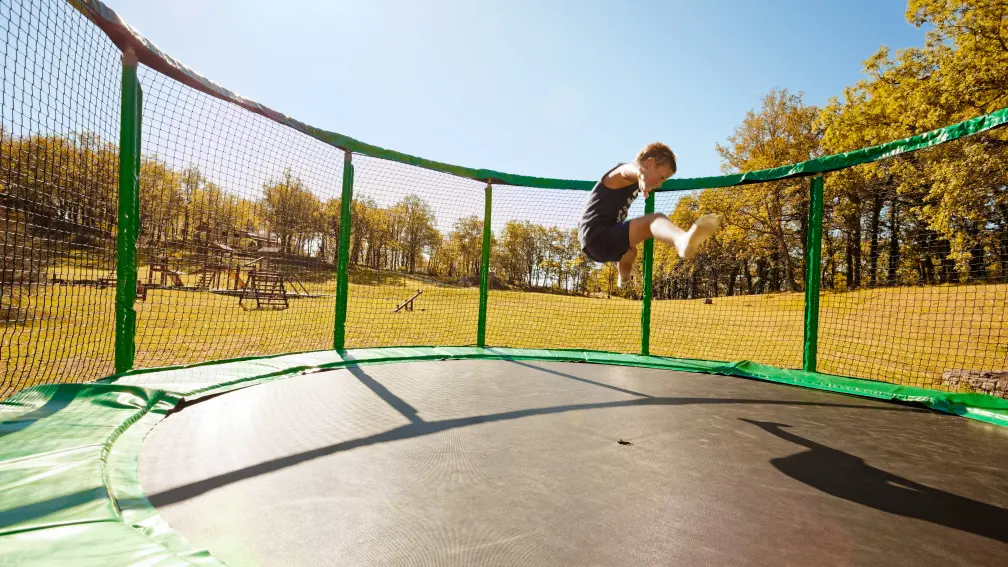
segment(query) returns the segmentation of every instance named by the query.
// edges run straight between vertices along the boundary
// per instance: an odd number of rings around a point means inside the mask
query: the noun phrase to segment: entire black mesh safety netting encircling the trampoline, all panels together
[[[0,35],[6,396],[113,370],[121,65],[62,2],[0,1]],[[331,348],[344,151],[139,77],[136,366]],[[484,184],[374,154],[353,155],[346,346],[476,343]],[[1006,187],[997,131],[828,175],[817,369],[1008,395]],[[643,253],[622,289],[586,258],[585,197],[492,188],[488,346],[640,351]],[[659,194],[723,227],[688,261],[655,244],[650,352],[801,367],[808,208],[808,180]]]

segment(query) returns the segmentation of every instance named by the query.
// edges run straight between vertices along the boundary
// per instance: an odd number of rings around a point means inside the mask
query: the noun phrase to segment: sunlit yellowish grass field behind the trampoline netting
[[[477,289],[400,276],[391,281],[351,284],[348,347],[475,344]],[[417,289],[423,293],[415,310],[393,314]],[[308,291],[322,297],[292,299],[289,309],[269,312],[245,311],[236,297],[150,290],[136,308],[136,364],[330,348],[335,280],[309,284]],[[34,292],[24,306],[34,319],[0,327],[2,350],[10,353],[0,396],[34,383],[112,373],[114,288],[48,286]],[[1006,304],[1006,285],[824,294],[818,369],[924,386],[939,386],[949,369],[1008,369]],[[713,305],[654,302],[651,353],[797,368],[802,313],[801,294],[716,298]],[[635,301],[492,291],[487,343],[638,352],[640,314]]]

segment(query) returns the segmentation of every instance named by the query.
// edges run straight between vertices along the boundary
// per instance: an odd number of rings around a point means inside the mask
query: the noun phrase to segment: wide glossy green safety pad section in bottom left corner
[[[131,385],[56,384],[0,405],[0,550],[16,565],[192,565],[123,522],[112,444],[177,398]],[[136,456],[131,467],[135,476]]]

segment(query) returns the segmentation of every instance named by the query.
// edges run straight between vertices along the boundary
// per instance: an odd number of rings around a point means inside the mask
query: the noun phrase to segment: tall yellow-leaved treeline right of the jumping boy
[[[866,79],[823,108],[774,90],[717,149],[725,173],[849,151],[1008,107],[1004,3],[911,0],[925,46],[881,48]],[[1008,132],[993,132],[831,174],[823,234],[825,289],[1008,280]],[[656,247],[663,297],[798,291],[808,181],[697,192],[671,216],[706,212],[725,228],[696,261]]]

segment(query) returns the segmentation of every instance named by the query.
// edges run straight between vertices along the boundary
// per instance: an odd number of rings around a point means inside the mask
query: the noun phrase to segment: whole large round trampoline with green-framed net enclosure
[[[958,174],[1008,108],[670,180],[645,212],[772,190],[780,230],[691,264],[645,244],[614,293],[564,236],[595,181],[310,126],[99,0],[0,27],[0,564],[1008,565],[1008,264],[921,209],[995,202]],[[875,196],[851,222],[838,189]],[[162,256],[171,290],[138,275]],[[251,265],[285,309],[241,309]]]

